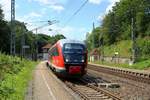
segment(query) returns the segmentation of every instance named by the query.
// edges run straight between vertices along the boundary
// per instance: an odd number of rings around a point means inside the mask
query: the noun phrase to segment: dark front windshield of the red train
[[[67,43],[63,48],[66,63],[85,62],[85,46],[82,44]]]

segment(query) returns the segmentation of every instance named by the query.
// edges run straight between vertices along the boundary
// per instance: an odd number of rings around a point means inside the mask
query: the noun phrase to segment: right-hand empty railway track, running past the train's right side
[[[109,68],[109,67],[99,66],[96,64],[88,64],[88,68],[94,71],[131,79],[141,83],[150,84],[150,73],[142,73],[142,72],[124,70],[119,68]]]

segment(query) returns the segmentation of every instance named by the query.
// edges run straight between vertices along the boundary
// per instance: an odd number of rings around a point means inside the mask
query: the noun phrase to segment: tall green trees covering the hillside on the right
[[[131,30],[132,25],[134,30]],[[135,34],[138,57],[142,59],[149,58],[150,0],[120,0],[120,2],[117,2],[112,11],[105,15],[102,25],[94,28],[91,33],[87,34],[86,43],[88,49],[90,51],[93,48],[99,48],[102,44],[106,48],[114,47],[113,45],[118,44],[122,40],[131,42],[131,31]],[[126,48],[126,46],[122,48]],[[128,54],[131,54],[131,46],[127,46]],[[106,54],[109,56],[108,52]],[[124,52],[121,53],[123,55]]]

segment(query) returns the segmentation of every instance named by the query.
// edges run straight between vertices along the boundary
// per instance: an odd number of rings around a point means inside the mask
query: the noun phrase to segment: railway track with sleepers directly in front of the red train
[[[64,83],[84,100],[121,100],[117,95],[98,87],[93,78],[86,76],[80,80]]]

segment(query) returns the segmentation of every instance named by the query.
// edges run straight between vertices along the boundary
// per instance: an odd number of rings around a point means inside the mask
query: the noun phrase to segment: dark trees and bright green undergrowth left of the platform
[[[0,7],[0,100],[23,100],[36,62],[4,55],[10,54],[10,25],[10,22],[4,20],[3,10]],[[30,55],[36,51],[36,43],[40,53],[41,48],[47,43],[54,44],[59,39],[65,38],[60,34],[55,36],[34,34],[26,28],[24,23],[19,21],[15,21],[15,31],[17,56],[21,55],[23,36],[25,45],[30,46],[26,50]]]

